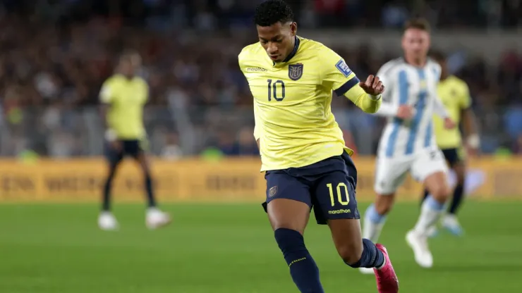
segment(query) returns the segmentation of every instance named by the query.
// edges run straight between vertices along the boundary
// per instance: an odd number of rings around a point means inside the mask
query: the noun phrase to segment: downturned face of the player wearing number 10
[[[269,27],[257,25],[257,37],[261,46],[274,62],[284,61],[293,50],[297,23],[275,23]]]

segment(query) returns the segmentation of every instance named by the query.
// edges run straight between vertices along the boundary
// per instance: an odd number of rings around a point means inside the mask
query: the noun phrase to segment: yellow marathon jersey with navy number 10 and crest
[[[296,37],[283,62],[274,63],[259,42],[246,46],[238,61],[254,98],[261,171],[309,166],[344,150],[353,154],[330,108],[332,91],[368,113],[381,104],[380,96],[359,86],[343,58],[310,39]]]

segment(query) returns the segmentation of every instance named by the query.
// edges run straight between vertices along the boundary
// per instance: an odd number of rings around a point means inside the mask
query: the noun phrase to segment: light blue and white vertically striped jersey
[[[439,64],[430,59],[423,68],[412,66],[403,58],[389,61],[380,68],[377,76],[386,89],[377,115],[388,117],[388,123],[380,139],[379,156],[409,156],[436,145],[433,113],[447,117],[437,96],[440,73]],[[396,117],[397,109],[404,104],[415,108],[409,120]]]

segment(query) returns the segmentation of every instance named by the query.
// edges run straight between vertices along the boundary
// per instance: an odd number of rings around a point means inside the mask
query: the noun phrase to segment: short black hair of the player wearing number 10
[[[293,11],[282,0],[267,0],[255,8],[254,22],[261,27],[293,21]]]

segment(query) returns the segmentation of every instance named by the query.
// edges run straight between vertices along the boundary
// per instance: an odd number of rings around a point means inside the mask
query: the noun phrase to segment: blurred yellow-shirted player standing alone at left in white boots
[[[146,139],[143,126],[143,107],[147,102],[149,88],[147,82],[135,75],[141,58],[133,51],[123,54],[116,73],[102,85],[99,99],[102,102],[103,117],[106,119],[107,159],[109,173],[103,189],[102,213],[98,225],[102,230],[116,230],[119,225],[110,211],[111,185],[116,170],[124,156],[138,161],[144,175],[148,209],[145,217],[147,227],[154,229],[170,222],[170,216],[156,206],[152,191],[149,164],[143,149]]]

